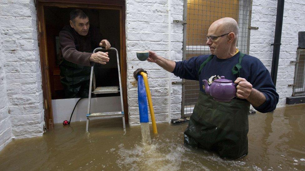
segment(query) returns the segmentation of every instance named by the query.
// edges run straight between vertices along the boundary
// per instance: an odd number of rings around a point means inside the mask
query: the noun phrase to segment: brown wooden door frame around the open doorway
[[[82,0],[37,0],[37,32],[38,32],[38,47],[40,55],[41,77],[42,77],[42,92],[43,92],[43,107],[46,122],[46,129],[54,128],[52,97],[49,77],[49,64],[47,56],[47,39],[46,26],[44,20],[43,8],[48,7],[79,7],[91,9],[114,9],[120,11],[120,39],[121,39],[121,81],[123,89],[123,102],[125,122],[128,123],[128,104],[127,104],[127,60],[126,60],[126,34],[125,34],[125,1],[124,0],[87,0],[85,3]]]

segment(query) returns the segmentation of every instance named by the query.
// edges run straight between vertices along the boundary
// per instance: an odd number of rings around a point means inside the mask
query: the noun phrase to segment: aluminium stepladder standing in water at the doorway
[[[96,48],[93,50],[93,53],[97,51],[106,50],[105,48]],[[120,64],[119,64],[119,55],[118,50],[115,48],[109,48],[109,50],[115,50],[117,53],[117,63],[118,63],[118,76],[119,76],[119,86],[108,86],[108,87],[96,87],[95,84],[95,76],[93,72],[93,67],[91,67],[90,74],[90,85],[89,85],[89,96],[88,96],[88,112],[87,112],[87,123],[86,123],[86,132],[88,132],[89,128],[89,120],[93,118],[111,118],[111,117],[123,117],[123,129],[125,131],[125,118],[124,118],[124,107],[123,107],[123,93],[122,93],[122,83],[121,83],[121,72],[120,72]],[[92,91],[92,83],[93,83],[93,91]],[[90,102],[91,102],[91,94],[103,94],[103,93],[118,93],[120,92],[121,96],[121,107],[122,110],[118,112],[101,112],[101,113],[90,113]]]

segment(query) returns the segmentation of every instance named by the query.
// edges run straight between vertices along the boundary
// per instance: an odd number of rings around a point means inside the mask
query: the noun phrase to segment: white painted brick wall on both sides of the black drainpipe
[[[277,107],[286,105],[286,97],[292,95],[296,60],[298,32],[305,31],[305,1],[286,0],[282,26],[280,58],[277,73],[277,93],[280,96]],[[251,30],[250,55],[257,57],[271,72],[274,31],[277,12],[277,0],[253,0],[251,26],[259,27]]]

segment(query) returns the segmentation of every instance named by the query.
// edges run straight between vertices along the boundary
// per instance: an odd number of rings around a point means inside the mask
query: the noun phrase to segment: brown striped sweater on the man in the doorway
[[[94,27],[89,27],[86,36],[79,35],[71,26],[64,26],[59,32],[63,58],[83,66],[94,65],[94,62],[89,61],[89,57],[93,54],[93,50],[99,47],[102,40],[102,35]]]

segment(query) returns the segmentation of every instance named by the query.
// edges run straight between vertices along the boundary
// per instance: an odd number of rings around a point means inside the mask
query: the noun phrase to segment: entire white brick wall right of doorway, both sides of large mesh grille
[[[134,86],[133,71],[138,68],[148,70],[149,81],[153,97],[163,98],[163,105],[154,105],[157,111],[164,115],[168,112],[168,76],[163,69],[156,64],[138,61],[135,51],[155,50],[159,55],[168,56],[168,1],[127,1],[126,36],[127,36],[127,60],[128,60],[128,104],[130,106],[131,124],[139,123],[137,109],[137,88]],[[286,97],[292,95],[295,66],[290,63],[296,58],[297,33],[303,31],[305,2],[297,0],[285,1],[282,46],[277,75],[277,92],[280,95],[278,107],[285,106]],[[143,8],[144,7],[144,8]],[[183,1],[172,2],[172,19],[183,19]],[[250,55],[260,59],[271,71],[274,30],[276,21],[277,0],[253,0],[251,26],[258,26],[259,30],[251,30]],[[179,61],[182,59],[183,26],[172,24],[172,52],[171,58]],[[159,79],[158,79],[159,78]],[[154,81],[157,79],[156,81]],[[172,81],[181,81],[172,75]],[[133,83],[133,84],[131,84]],[[172,115],[171,118],[181,116],[181,85],[172,85]],[[158,89],[158,91],[154,90]],[[176,91],[177,90],[177,91]],[[173,100],[177,98],[177,100]],[[153,104],[158,102],[153,101]],[[179,110],[175,107],[180,105]],[[133,108],[132,108],[133,107]],[[156,108],[155,107],[155,108]],[[135,111],[133,111],[135,110]],[[165,118],[165,117],[162,117]],[[165,119],[164,121],[167,121]],[[157,118],[157,121],[163,121]]]

